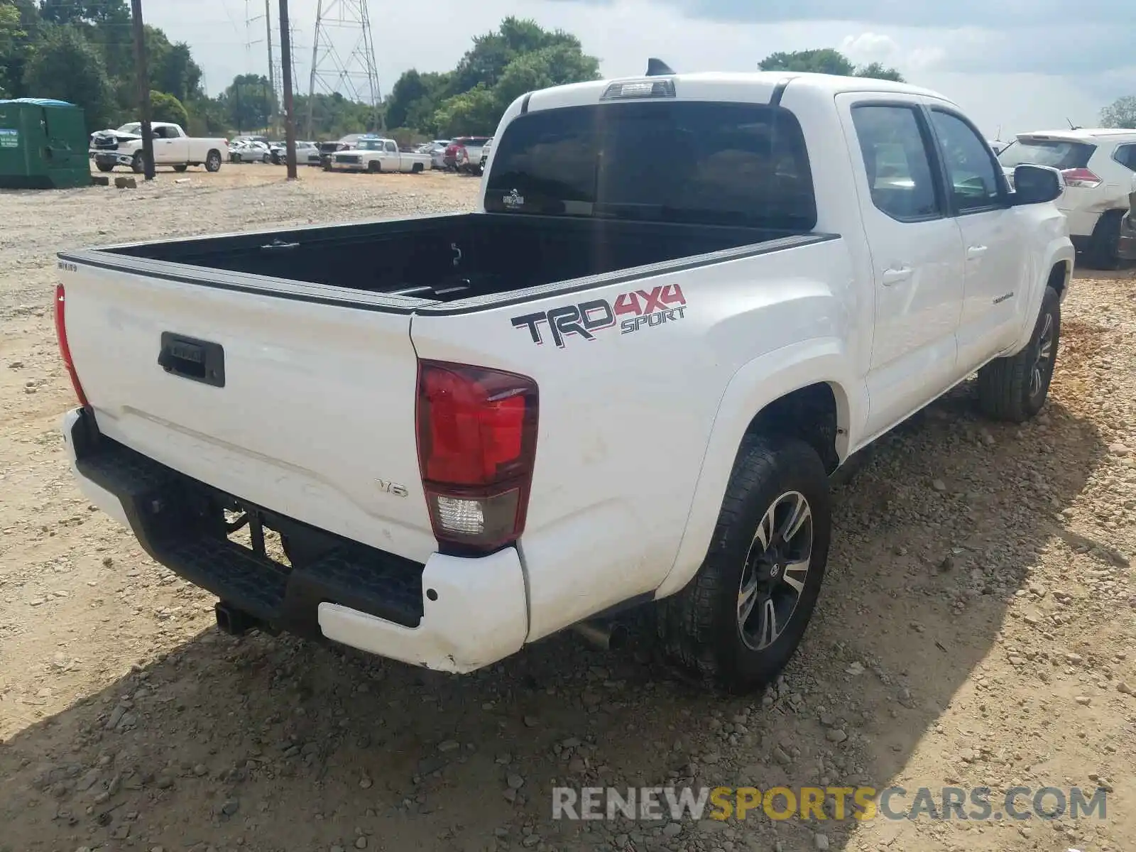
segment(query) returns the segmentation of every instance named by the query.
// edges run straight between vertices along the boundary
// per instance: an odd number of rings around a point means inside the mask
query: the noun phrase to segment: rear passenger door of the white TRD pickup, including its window
[[[949,215],[920,100],[858,92],[837,103],[859,148],[853,170],[875,276],[866,429],[875,436],[954,382],[962,235]]]

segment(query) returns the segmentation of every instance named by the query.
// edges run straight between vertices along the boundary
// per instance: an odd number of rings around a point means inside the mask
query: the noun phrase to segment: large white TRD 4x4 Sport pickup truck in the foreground
[[[1060,192],[904,84],[536,91],[477,212],[60,253],[62,432],[224,629],[460,673],[658,601],[744,690],[802,638],[846,459],[976,370],[1041,409]]]

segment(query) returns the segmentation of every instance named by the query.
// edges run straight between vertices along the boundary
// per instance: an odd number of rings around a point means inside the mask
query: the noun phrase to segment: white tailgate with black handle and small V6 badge
[[[76,373],[108,437],[383,551],[436,550],[409,312],[85,266],[64,282]]]

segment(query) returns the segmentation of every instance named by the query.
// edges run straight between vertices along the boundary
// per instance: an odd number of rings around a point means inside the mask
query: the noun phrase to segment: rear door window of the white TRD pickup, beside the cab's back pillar
[[[872,203],[899,222],[943,216],[930,137],[916,106],[861,105],[852,108]]]

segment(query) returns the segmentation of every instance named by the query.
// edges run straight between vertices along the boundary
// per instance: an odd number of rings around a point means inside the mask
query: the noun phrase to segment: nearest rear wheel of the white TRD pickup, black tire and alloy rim
[[[660,602],[659,636],[668,655],[735,693],[776,678],[812,617],[830,528],[828,476],[817,451],[794,437],[747,437],[705,560],[683,591]],[[742,605],[749,608],[744,618]]]

